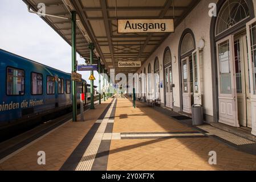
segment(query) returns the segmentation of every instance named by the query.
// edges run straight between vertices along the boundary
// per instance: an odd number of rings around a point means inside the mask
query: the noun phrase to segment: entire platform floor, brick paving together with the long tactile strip
[[[84,115],[86,122],[67,122],[0,160],[0,169],[256,170],[256,156],[214,138],[216,130],[196,130],[140,102],[134,109],[129,98],[109,99]],[[44,166],[37,163],[38,151],[46,152]],[[208,163],[210,151],[217,165]]]

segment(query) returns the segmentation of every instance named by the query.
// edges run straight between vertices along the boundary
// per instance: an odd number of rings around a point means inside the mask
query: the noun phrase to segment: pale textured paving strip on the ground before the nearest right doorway
[[[199,129],[209,132],[209,133],[206,133],[207,135],[216,135],[217,137],[227,140],[228,142],[231,142],[233,144],[236,144],[237,146],[243,145],[243,144],[255,144],[255,142],[251,140],[239,137],[237,135],[231,134],[224,130],[217,129],[213,126],[197,126],[197,127]]]

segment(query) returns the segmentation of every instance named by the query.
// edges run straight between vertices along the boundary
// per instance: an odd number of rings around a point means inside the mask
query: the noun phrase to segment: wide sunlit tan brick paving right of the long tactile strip
[[[136,109],[131,106],[130,100],[118,100],[113,133],[149,135],[112,140],[108,170],[256,169],[256,156],[234,150],[205,135],[193,134],[192,131],[198,130],[182,125],[140,102],[137,102]],[[163,133],[176,135],[160,138]],[[208,163],[210,151],[217,152],[217,165]]]

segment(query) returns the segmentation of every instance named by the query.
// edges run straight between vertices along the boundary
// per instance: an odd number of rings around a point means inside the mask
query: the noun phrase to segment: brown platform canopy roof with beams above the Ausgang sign
[[[95,44],[95,58],[116,73],[133,73],[137,68],[118,68],[118,61],[143,61],[155,51],[170,33],[118,34],[117,19],[169,19],[174,27],[185,18],[200,0],[23,0],[38,10],[46,5],[46,14],[70,18],[77,13],[77,51],[90,57],[88,42]],[[173,2],[174,1],[174,2]],[[174,5],[174,6],[173,6]],[[71,21],[50,16],[42,17],[71,45]]]

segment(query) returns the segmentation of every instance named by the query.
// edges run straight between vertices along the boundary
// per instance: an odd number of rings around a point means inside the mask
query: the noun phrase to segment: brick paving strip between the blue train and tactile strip
[[[0,160],[0,170],[59,170],[110,102],[103,102],[96,105],[95,110],[84,113],[85,122],[70,120],[17,154],[9,156],[4,162]],[[38,165],[38,151],[46,153],[46,165]]]

